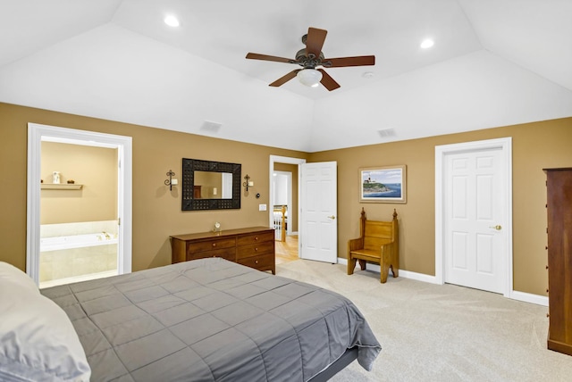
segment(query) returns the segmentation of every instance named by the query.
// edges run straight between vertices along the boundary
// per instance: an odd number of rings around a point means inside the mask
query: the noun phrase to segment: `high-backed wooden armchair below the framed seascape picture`
[[[360,237],[348,241],[348,274],[352,275],[359,261],[361,270],[366,270],[366,262],[380,264],[381,282],[387,281],[391,268],[394,278],[399,276],[400,243],[397,212],[393,210],[393,220],[375,221],[366,219],[366,211],[361,209],[359,224]]]

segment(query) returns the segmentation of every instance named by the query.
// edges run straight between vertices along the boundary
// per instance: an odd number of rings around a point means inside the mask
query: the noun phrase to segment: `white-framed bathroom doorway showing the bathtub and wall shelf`
[[[27,271],[40,287],[131,270],[131,139],[29,124]]]

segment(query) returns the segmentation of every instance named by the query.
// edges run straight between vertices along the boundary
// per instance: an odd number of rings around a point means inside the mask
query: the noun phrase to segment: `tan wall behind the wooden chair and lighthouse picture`
[[[435,146],[498,137],[512,137],[514,289],[546,295],[543,168],[572,167],[572,118],[310,154],[309,162],[338,162],[339,255],[347,257],[349,238],[359,236],[362,207],[372,220],[390,220],[395,208],[400,220],[400,268],[434,275]],[[407,165],[407,203],[359,203],[358,169],[396,164]]]

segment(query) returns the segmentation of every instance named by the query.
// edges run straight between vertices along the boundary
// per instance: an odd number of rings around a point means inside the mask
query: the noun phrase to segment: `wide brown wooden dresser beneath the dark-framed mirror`
[[[257,270],[276,274],[274,229],[251,227],[171,237],[172,263],[223,257]]]

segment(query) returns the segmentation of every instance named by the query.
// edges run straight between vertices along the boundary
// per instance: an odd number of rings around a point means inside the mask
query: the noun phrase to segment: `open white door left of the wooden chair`
[[[300,166],[300,257],[338,262],[337,163]]]

